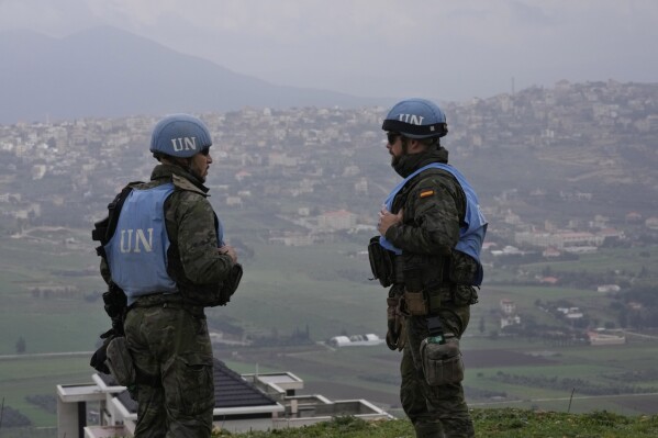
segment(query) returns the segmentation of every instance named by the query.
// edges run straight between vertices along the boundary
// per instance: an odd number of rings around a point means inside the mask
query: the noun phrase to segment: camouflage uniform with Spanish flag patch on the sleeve
[[[447,162],[447,150],[435,148],[405,155],[394,167],[406,178],[431,162]],[[426,195],[428,192],[433,194]],[[427,169],[397,194],[391,213],[397,214],[400,209],[404,212],[403,222],[390,226],[386,238],[402,249],[398,257],[403,260],[404,283],[393,284],[389,296],[402,295],[411,284],[414,284],[412,291],[424,289],[432,296],[431,315],[438,315],[444,332],[459,338],[469,322],[469,306],[477,302],[472,287],[456,285],[448,280],[460,271],[477,269],[475,260],[454,257],[460,218],[466,211],[464,191],[447,171]],[[420,345],[428,336],[426,316],[408,316],[404,332],[400,397],[416,437],[473,437],[461,384],[430,386],[423,377]]]

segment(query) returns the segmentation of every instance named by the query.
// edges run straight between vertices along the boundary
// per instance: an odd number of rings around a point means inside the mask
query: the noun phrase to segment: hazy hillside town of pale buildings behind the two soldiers
[[[542,156],[558,146],[565,150],[568,144],[571,155],[566,160],[581,161],[583,173],[656,190],[653,169],[639,173],[625,168],[635,156],[655,159],[656,94],[658,87],[651,85],[561,81],[553,89],[447,103],[447,147],[451,160],[477,177],[480,170],[468,167],[469,157],[487,155],[488,149],[534,150]],[[386,162],[380,131],[384,111],[246,108],[202,114],[216,145],[208,181],[212,202],[219,210],[257,206],[275,214],[285,225],[264,231],[260,237],[283,245],[310,245],[335,238],[336,233],[372,229],[372,211],[397,178]],[[4,233],[20,234],[34,225],[89,226],[125,181],[147,178],[154,160],[146,145],[156,119],[0,126],[0,203],[11,205],[2,209]],[[556,190],[509,188],[509,181],[499,180],[498,188],[481,189],[491,232],[505,232],[491,239],[498,244],[494,255],[523,247],[542,248],[546,257],[592,251],[606,239],[633,239],[621,225],[658,228],[658,216],[646,204],[588,216],[587,205],[600,202],[600,193],[589,190],[588,183]],[[580,214],[561,223],[549,217],[539,222],[520,207],[546,199],[576,204]]]

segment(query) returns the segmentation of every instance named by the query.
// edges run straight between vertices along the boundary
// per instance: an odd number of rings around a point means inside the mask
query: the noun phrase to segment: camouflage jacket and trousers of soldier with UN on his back
[[[165,203],[168,273],[182,291],[218,289],[233,263],[216,250],[208,189],[171,165],[156,166],[150,182],[137,187],[171,181],[176,190]],[[109,281],[104,261],[101,273]],[[135,437],[210,437],[213,357],[203,306],[181,293],[142,296],[129,308],[124,329],[137,370]]]

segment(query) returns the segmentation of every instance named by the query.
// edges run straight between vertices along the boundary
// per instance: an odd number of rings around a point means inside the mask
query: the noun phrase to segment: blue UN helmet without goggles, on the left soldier
[[[208,127],[189,114],[172,114],[153,128],[150,151],[154,156],[189,158],[212,145]]]

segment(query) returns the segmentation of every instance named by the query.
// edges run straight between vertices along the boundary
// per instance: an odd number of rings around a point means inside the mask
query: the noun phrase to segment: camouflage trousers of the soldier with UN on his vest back
[[[124,328],[137,369],[137,438],[210,437],[212,347],[203,310],[137,301]]]

